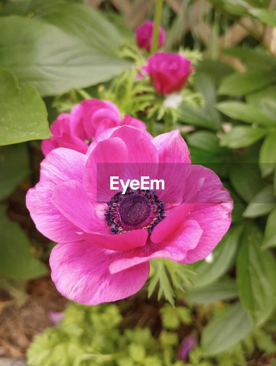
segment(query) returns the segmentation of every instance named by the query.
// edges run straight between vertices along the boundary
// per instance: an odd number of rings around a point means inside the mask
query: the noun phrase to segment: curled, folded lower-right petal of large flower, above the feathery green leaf
[[[165,221],[165,220],[164,220]],[[148,262],[153,258],[169,258],[173,261],[183,261],[190,249],[197,246],[202,229],[194,220],[186,220],[185,223],[179,227],[170,240],[166,240],[158,245],[154,243],[146,244],[148,248],[137,248],[128,254],[126,258],[120,258],[111,263],[109,269],[111,273],[117,273],[126,268]]]

